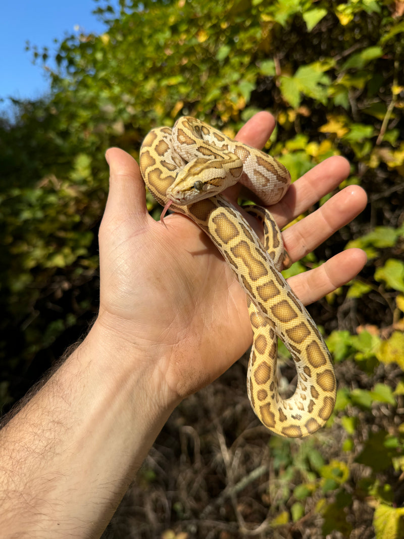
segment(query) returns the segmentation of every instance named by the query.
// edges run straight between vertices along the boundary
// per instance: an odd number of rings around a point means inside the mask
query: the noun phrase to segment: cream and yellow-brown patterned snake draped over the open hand
[[[281,436],[317,431],[335,405],[336,378],[314,321],[279,271],[281,233],[267,210],[249,206],[263,222],[262,245],[240,212],[218,194],[240,180],[264,204],[274,204],[288,189],[288,171],[262,151],[189,117],[180,118],[173,129],[150,131],[142,144],[140,168],[159,203],[190,217],[208,234],[247,294],[254,333],[247,390],[257,417]],[[296,390],[287,399],[278,393],[277,337],[297,371]]]

